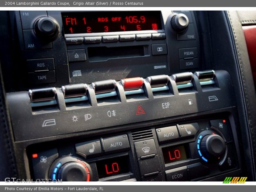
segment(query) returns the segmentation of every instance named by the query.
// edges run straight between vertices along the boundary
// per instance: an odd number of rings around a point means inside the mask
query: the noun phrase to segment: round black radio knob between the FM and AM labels
[[[52,39],[57,35],[58,28],[54,20],[49,17],[41,17],[34,24],[36,36],[45,39]]]

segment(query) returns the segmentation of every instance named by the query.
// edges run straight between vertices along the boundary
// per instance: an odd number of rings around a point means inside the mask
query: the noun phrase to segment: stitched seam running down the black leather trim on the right
[[[249,118],[250,118],[250,128],[251,128],[251,132],[252,132],[252,140],[253,140],[253,146],[254,146],[253,151],[254,151],[254,154],[255,154],[256,153],[256,144],[255,144],[255,138],[254,138],[254,133],[253,133],[253,129],[252,129],[252,118],[251,118],[250,106],[249,106],[249,102],[248,102],[247,90],[246,90],[246,87],[245,87],[244,70],[243,70],[243,65],[242,65],[243,61],[241,59],[241,55],[240,55],[240,51],[239,51],[239,47],[238,47],[238,43],[237,43],[236,32],[235,32],[235,29],[234,29],[234,26],[233,26],[232,19],[231,19],[229,11],[228,11],[228,15],[229,15],[230,23],[231,23],[231,26],[232,26],[232,29],[233,29],[233,34],[234,34],[235,40],[236,40],[236,49],[237,49],[238,58],[239,58],[239,65],[240,65],[241,72],[242,72],[244,91],[245,91],[245,98],[246,98],[246,103],[247,103],[247,108],[248,108],[248,113],[249,113]]]

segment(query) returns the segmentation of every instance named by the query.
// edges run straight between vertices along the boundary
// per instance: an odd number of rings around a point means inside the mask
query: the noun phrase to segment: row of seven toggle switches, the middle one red
[[[215,72],[213,70],[197,71],[195,72],[195,75],[198,77],[201,86],[215,84]],[[178,90],[193,87],[193,73],[191,72],[174,74],[171,78],[175,81]],[[170,76],[168,75],[149,76],[146,78],[146,81],[150,84],[153,94],[156,92],[170,90],[168,85]],[[138,96],[140,94],[144,94],[144,79],[142,77],[122,79],[120,80],[120,84],[124,88],[126,97],[130,95]],[[71,103],[88,100],[88,86],[89,85],[87,84],[71,84],[62,86],[61,90],[63,92],[65,102]],[[110,79],[96,81],[91,84],[91,87],[95,92],[97,100],[117,96],[117,82],[115,80]],[[57,104],[55,87],[29,90],[29,96],[32,107]]]

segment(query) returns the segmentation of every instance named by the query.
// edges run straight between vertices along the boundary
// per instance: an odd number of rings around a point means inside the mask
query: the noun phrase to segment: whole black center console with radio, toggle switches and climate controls
[[[6,90],[21,178],[194,181],[242,173],[234,84],[227,70],[205,66],[193,11],[10,17],[21,59],[12,66],[15,91]]]

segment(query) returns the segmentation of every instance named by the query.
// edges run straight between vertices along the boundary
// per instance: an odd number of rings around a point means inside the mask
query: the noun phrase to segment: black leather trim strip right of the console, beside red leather
[[[243,128],[249,129],[248,138],[251,143],[251,153],[254,180],[255,180],[255,160],[256,160],[256,96],[254,83],[252,78],[252,70],[250,60],[247,52],[246,42],[242,25],[239,22],[239,16],[236,11],[227,11],[230,27],[232,30],[233,40],[236,48],[236,56],[238,59],[238,67],[240,70],[241,85],[243,88],[242,94],[244,95],[244,112],[247,119],[247,124]],[[249,155],[249,154],[247,154]]]

